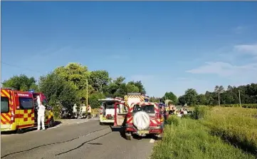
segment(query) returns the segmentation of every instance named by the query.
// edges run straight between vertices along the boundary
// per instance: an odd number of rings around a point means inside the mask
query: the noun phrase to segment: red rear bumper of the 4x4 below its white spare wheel
[[[145,134],[162,134],[164,130],[163,125],[150,126],[149,128],[142,130]],[[140,130],[137,130],[134,125],[126,124],[125,128],[126,133],[140,133]]]

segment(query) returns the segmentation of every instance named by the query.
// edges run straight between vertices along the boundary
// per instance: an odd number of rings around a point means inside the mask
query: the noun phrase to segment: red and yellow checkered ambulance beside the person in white
[[[25,128],[36,127],[35,103],[31,92],[1,88],[1,131],[21,133]]]

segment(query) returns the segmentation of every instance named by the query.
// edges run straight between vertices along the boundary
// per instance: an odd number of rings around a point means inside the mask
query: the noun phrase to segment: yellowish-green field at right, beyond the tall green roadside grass
[[[256,115],[256,109],[217,107],[212,108],[201,123],[211,130],[211,134],[257,155]]]

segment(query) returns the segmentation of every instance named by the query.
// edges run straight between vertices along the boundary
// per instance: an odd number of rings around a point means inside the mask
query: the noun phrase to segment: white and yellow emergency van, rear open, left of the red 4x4
[[[115,103],[122,102],[122,98],[105,98],[99,99],[98,101],[102,102],[99,111],[100,125],[105,125],[105,123],[115,123],[115,112],[125,111],[122,106],[117,107],[116,111],[114,108]]]

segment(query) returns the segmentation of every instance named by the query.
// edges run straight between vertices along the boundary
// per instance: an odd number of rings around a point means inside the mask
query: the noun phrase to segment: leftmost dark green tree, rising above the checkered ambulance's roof
[[[24,74],[21,74],[20,76],[13,76],[8,80],[5,80],[2,84],[3,87],[15,88],[19,91],[28,91],[30,89],[38,91],[36,79],[33,77],[28,78],[28,76]]]

